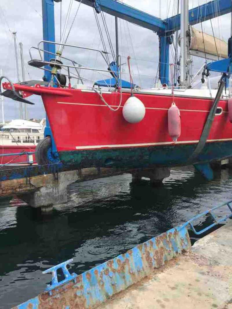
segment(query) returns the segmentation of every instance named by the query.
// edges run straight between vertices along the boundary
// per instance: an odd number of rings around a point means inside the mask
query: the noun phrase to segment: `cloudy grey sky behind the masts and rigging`
[[[60,41],[60,29],[63,30],[69,2],[70,0],[62,0],[62,6],[60,3],[54,2],[55,35],[57,42]],[[176,14],[177,0],[123,0],[123,2],[141,11],[160,17],[161,19],[165,19]],[[204,4],[205,2],[206,0],[189,0],[189,9]],[[79,2],[74,1],[68,23],[68,29],[71,26],[78,6]],[[62,13],[60,14],[60,12]],[[105,14],[105,19],[115,50],[114,17]],[[230,20],[230,14],[212,19],[215,36],[225,41],[228,40],[230,36]],[[100,25],[103,29],[101,20]],[[212,34],[212,27],[209,20],[202,22],[202,27],[203,31]],[[195,25],[195,28],[201,30],[201,25],[197,24]],[[43,71],[28,66],[27,64],[30,60],[28,52],[29,47],[37,46],[38,42],[43,39],[41,0],[0,1],[0,69],[2,69],[3,75],[9,77],[13,82],[17,82],[14,40],[12,35],[12,32],[15,31],[17,32],[20,79],[22,79],[22,70],[19,56],[19,42],[23,43],[26,80],[41,79],[43,76]],[[157,34],[151,30],[128,23],[122,19],[118,19],[118,32],[119,54],[122,56],[122,63],[126,62],[127,56],[131,56],[131,67],[134,83],[139,84],[143,88],[152,87],[157,74],[159,59]],[[104,39],[107,45],[106,49],[109,50],[105,32]],[[97,29],[93,9],[91,7],[81,3],[67,43],[102,49],[100,35]],[[96,52],[68,47],[64,49],[63,56],[75,60],[82,66],[107,69],[101,55]],[[39,56],[36,50],[33,51],[32,57],[34,59],[38,59]],[[170,59],[172,59],[171,56]],[[194,57],[193,70],[196,72],[203,63],[204,59]],[[128,80],[127,65],[124,64],[122,68],[122,78]],[[107,73],[103,73],[106,74],[106,76],[99,73],[93,73],[92,71],[84,71],[82,74],[85,78],[88,78],[91,81],[109,78],[109,74]],[[72,83],[76,83],[76,81],[72,80]],[[29,100],[35,103],[35,105],[32,106],[27,105],[29,119],[40,119],[45,117],[45,110],[40,96],[33,95],[29,98]],[[4,110],[5,120],[19,119],[19,104],[17,101],[5,99]],[[1,121],[2,115],[0,112],[0,122]]]

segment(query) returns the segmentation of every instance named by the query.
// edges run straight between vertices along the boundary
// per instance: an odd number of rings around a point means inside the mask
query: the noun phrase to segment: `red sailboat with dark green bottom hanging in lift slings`
[[[226,89],[226,84],[230,83],[232,38],[228,40],[226,55],[223,49],[220,59],[206,63],[202,70],[202,79],[208,77],[209,70],[220,72],[219,87],[192,89],[188,61],[190,26],[186,12],[187,1],[181,1],[180,77],[176,85],[171,81],[157,88],[136,87],[131,74],[130,83],[122,80],[120,55],[117,54],[116,62],[109,63],[105,52],[92,49],[101,54],[108,68],[93,70],[108,72],[112,78],[95,83],[91,88],[84,84],[72,87],[70,79],[74,76],[70,70],[76,70],[76,66],[73,62],[72,65],[63,64],[62,49],[65,46],[77,50],[85,48],[66,44],[64,40],[60,43],[41,41],[35,47],[40,59],[31,57],[28,64],[49,67],[48,87],[39,82],[33,85],[5,82],[2,85],[6,95],[24,103],[30,103],[26,98],[32,94],[41,96],[59,158],[66,165],[145,168],[196,165],[230,157],[232,92],[231,87]],[[191,33],[197,36],[192,28]],[[45,51],[42,43],[59,48],[53,59],[45,61],[42,58]],[[206,43],[207,54],[213,54],[208,48],[210,44]],[[195,39],[191,40],[191,50],[202,53]],[[128,66],[130,69],[129,57]],[[67,76],[62,69],[68,70]],[[89,69],[81,68],[82,71]],[[40,164],[48,163],[44,153],[51,147],[49,138],[43,143],[44,146],[40,143],[37,149]]]

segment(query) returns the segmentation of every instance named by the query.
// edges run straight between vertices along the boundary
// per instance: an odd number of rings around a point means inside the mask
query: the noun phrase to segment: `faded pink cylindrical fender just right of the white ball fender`
[[[168,133],[173,142],[180,136],[180,111],[174,102],[168,110]]]

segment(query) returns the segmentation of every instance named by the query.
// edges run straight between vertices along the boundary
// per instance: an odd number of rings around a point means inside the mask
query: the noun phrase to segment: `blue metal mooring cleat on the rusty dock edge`
[[[61,286],[62,284],[70,281],[70,280],[74,280],[77,277],[76,273],[72,273],[70,274],[69,270],[67,269],[67,264],[71,263],[73,261],[73,259],[67,260],[65,262],[62,262],[58,265],[55,265],[49,269],[46,269],[45,271],[43,271],[43,274],[45,273],[52,273],[52,284],[48,284],[47,288],[45,289],[45,292],[49,292],[49,294],[51,295],[51,291],[54,290],[55,288],[57,288],[58,286]],[[63,271],[63,274],[65,276],[65,279],[62,281],[58,282],[58,278],[57,278],[57,269],[61,268]]]

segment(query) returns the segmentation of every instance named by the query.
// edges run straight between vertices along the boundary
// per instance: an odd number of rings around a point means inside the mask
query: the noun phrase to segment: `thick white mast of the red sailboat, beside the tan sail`
[[[180,2],[180,85],[186,86],[188,62],[188,0]]]

